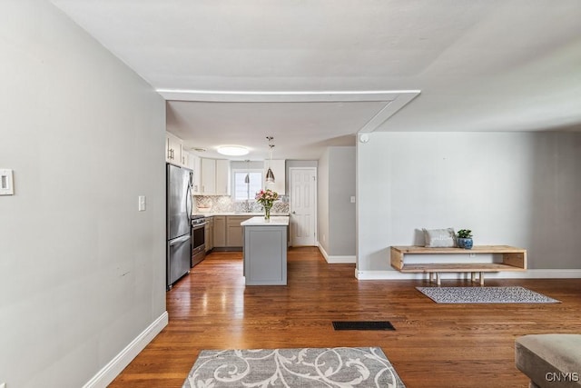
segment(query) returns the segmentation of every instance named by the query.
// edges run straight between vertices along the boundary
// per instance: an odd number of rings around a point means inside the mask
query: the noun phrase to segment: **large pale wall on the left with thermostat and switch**
[[[165,313],[164,102],[40,0],[0,3],[0,84],[0,383],[79,387]]]

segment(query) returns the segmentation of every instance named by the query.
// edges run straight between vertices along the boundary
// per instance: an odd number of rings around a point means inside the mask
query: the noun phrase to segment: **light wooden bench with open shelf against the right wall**
[[[408,254],[501,254],[502,263],[421,263],[406,264]],[[479,274],[480,285],[484,285],[484,273],[527,270],[527,250],[507,245],[475,245],[472,249],[427,248],[425,246],[392,246],[391,266],[405,274],[428,274],[429,281],[435,274],[440,285],[439,273],[470,273],[472,282]]]

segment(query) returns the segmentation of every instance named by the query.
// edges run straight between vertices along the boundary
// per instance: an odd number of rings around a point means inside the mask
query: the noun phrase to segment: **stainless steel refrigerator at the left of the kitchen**
[[[190,260],[192,257],[192,174],[192,170],[167,164],[167,290],[170,290],[172,285],[184,274],[190,272]]]

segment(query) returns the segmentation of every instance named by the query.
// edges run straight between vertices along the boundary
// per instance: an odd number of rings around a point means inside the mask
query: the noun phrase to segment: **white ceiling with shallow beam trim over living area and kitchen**
[[[262,159],[267,135],[275,159],[317,159],[360,130],[581,130],[579,0],[52,2],[208,156]]]

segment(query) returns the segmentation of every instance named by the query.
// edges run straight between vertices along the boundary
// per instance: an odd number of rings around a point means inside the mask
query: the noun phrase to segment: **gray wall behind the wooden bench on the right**
[[[581,268],[581,133],[374,133],[358,143],[358,271],[389,271],[418,230],[527,248],[531,269]]]

